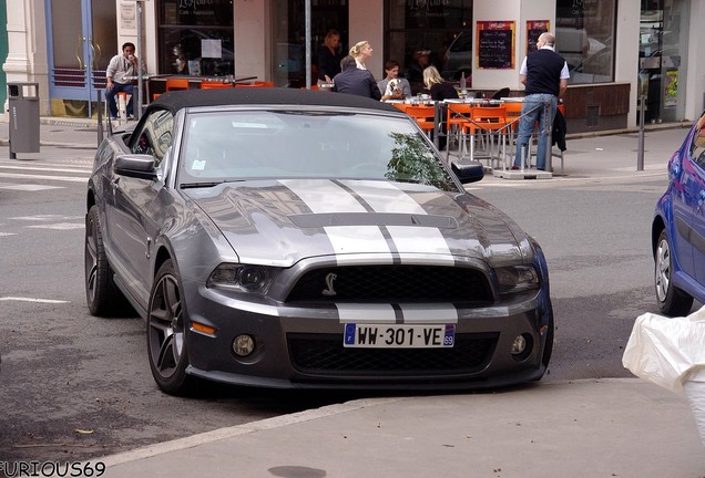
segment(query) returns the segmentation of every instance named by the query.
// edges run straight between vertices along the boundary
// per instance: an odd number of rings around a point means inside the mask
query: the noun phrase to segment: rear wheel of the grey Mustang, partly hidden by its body
[[[83,264],[85,270],[85,301],[96,316],[124,313],[127,301],[113,281],[113,271],[105,256],[98,206],[85,216]]]

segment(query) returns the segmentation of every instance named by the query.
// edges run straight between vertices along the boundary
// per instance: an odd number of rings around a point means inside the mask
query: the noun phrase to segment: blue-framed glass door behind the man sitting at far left
[[[119,52],[115,0],[47,0],[47,11],[52,114],[91,117]]]

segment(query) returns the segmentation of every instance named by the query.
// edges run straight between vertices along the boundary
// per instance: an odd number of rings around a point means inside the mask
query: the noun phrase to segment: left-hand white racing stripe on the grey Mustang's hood
[[[366,212],[355,196],[333,181],[283,179],[279,181],[298,196],[315,214]],[[335,253],[391,253],[377,226],[333,226],[324,228]]]

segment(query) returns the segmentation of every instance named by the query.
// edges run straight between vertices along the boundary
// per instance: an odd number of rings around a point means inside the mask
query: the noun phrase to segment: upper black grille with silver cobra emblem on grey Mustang
[[[335,295],[325,294],[335,274]],[[464,267],[345,266],[305,273],[287,302],[479,302],[492,301],[484,273]]]

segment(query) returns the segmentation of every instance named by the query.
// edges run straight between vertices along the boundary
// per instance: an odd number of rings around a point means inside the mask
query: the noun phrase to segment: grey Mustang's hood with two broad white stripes
[[[242,262],[289,267],[320,256],[370,261],[517,261],[524,233],[462,193],[371,180],[241,181],[188,189]],[[371,256],[379,254],[379,256]]]

